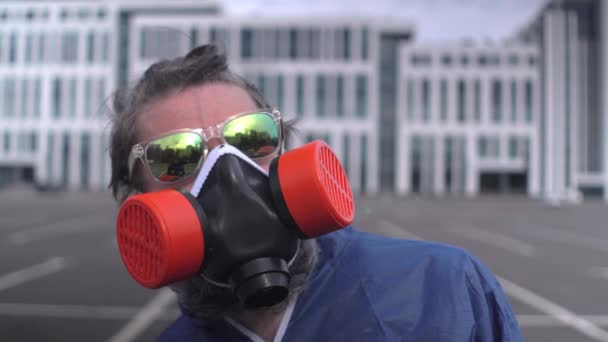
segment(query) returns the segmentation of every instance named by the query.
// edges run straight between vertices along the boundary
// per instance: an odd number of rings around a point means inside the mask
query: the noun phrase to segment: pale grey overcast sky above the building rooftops
[[[418,41],[502,40],[545,0],[219,0],[239,15],[372,15],[415,24]]]

